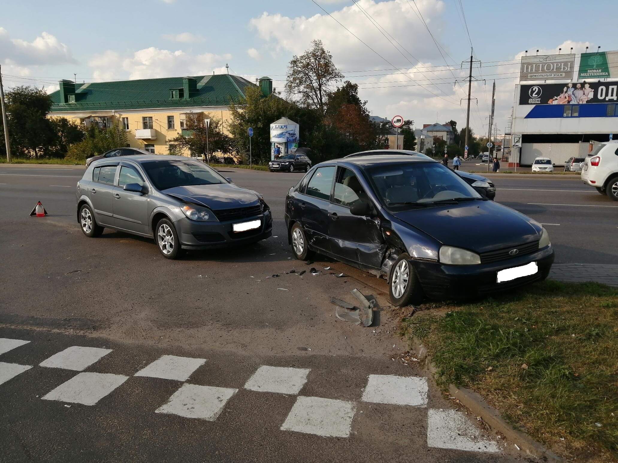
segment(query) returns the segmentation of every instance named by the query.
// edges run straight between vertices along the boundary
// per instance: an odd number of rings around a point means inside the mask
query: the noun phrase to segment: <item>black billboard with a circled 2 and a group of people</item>
[[[585,104],[618,100],[618,82],[570,82],[521,85],[519,104]]]

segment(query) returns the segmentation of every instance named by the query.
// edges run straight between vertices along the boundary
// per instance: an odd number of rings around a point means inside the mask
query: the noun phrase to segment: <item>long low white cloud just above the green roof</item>
[[[182,75],[206,75],[213,71],[226,72],[224,62],[231,54],[190,54],[182,50],[170,51],[156,47],[133,52],[132,56],[120,56],[108,50],[93,57],[88,65],[96,78],[145,79],[178,77]]]

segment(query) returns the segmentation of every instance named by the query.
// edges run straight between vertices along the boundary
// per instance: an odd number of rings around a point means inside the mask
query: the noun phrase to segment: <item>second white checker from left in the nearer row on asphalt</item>
[[[94,405],[129,377],[111,373],[79,373],[42,397],[74,404]]]

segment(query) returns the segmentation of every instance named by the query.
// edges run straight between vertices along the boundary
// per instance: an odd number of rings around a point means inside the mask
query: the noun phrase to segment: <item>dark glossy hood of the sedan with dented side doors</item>
[[[447,246],[493,251],[541,239],[541,225],[494,201],[464,201],[426,209],[395,212],[412,225]]]

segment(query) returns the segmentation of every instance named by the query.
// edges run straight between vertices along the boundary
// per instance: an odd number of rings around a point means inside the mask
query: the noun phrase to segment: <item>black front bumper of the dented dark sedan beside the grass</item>
[[[530,262],[538,265],[535,275],[497,283],[499,270],[520,267]],[[547,277],[553,262],[554,249],[551,246],[527,256],[491,264],[443,265],[439,262],[410,261],[417,270],[425,295],[431,299],[467,299],[519,288]]]

